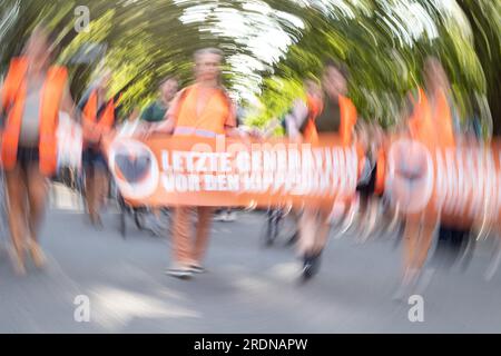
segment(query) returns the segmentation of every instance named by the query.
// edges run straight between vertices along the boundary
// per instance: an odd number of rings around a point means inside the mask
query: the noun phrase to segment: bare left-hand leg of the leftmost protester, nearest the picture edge
[[[26,226],[26,196],[27,184],[26,172],[18,164],[12,170],[6,171],[6,188],[8,198],[8,218],[10,235],[14,248],[16,269],[19,274],[24,274],[24,238]]]

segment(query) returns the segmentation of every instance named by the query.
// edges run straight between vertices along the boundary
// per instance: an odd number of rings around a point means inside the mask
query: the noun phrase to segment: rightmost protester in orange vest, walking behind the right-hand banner
[[[428,58],[424,63],[424,89],[418,90],[418,98],[411,99],[414,107],[407,121],[410,138],[423,144],[428,149],[454,147],[451,90],[445,71],[436,58]],[[410,152],[403,155],[405,157],[401,157],[402,164],[410,165],[412,158]],[[414,189],[410,194],[422,192]],[[430,250],[433,233],[440,222],[440,211],[436,208],[429,204],[422,211],[405,216],[404,274],[400,294],[415,286],[420,276],[423,277],[420,288],[424,288],[431,277],[432,269],[425,270],[426,274],[423,276],[422,267]]]

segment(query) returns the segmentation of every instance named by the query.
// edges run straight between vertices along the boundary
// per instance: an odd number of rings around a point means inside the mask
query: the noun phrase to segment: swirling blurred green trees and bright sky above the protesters
[[[76,10],[87,7],[88,28]],[[499,134],[500,2],[492,0],[2,0],[0,72],[41,20],[59,33],[59,62],[79,98],[105,66],[126,112],[154,100],[176,73],[191,79],[194,50],[224,50],[225,85],[250,125],[263,127],[304,95],[302,80],[325,58],[351,70],[350,96],[362,118],[390,127],[403,98],[438,56],[462,120]],[[76,12],[77,11],[77,12]]]

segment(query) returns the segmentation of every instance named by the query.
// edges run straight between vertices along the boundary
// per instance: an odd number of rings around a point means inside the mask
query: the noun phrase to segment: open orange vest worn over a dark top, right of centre
[[[352,100],[344,96],[338,96],[340,111],[341,111],[341,125],[340,136],[343,146],[350,146],[353,141],[353,128],[356,123],[356,108]],[[307,97],[308,106],[308,122],[304,131],[304,139],[308,142],[318,141],[318,132],[315,126],[315,119],[323,110],[323,102],[311,96]]]

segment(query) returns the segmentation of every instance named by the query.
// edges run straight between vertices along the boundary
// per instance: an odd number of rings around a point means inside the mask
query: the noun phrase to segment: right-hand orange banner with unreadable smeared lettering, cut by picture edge
[[[470,226],[501,218],[501,146],[463,139],[428,147],[395,138],[387,148],[385,194],[401,211],[431,209],[444,222]]]

